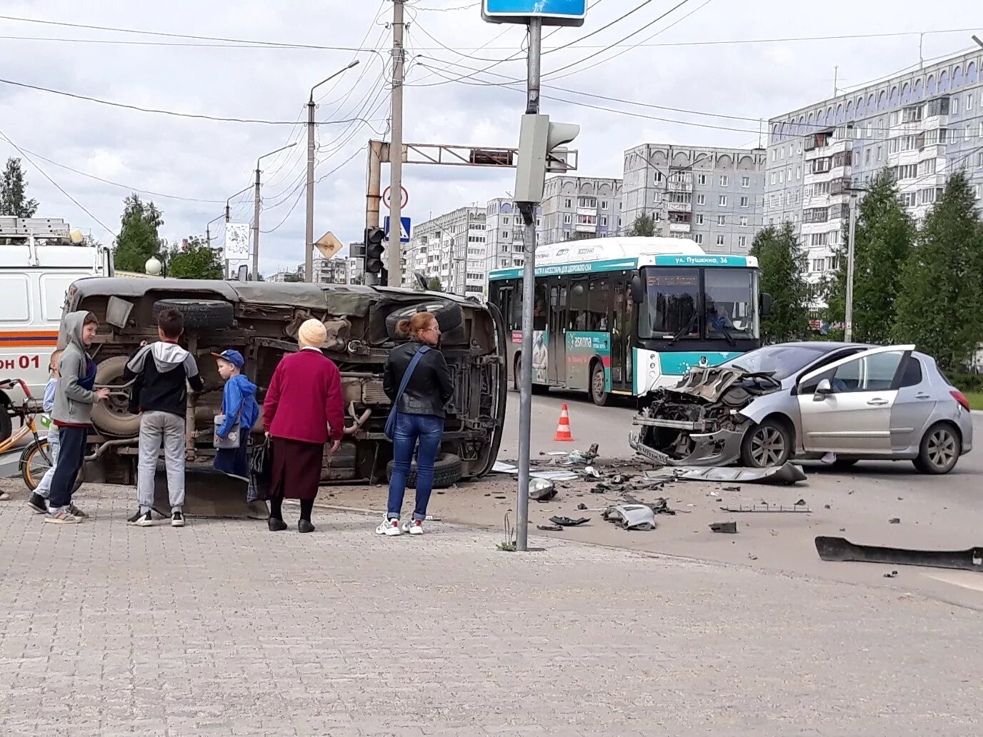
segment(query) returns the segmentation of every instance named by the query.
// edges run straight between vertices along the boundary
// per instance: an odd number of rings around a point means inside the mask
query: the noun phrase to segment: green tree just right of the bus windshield
[[[806,255],[791,223],[769,225],[755,236],[751,255],[761,268],[761,291],[772,296],[772,310],[761,320],[768,343],[801,339],[809,331],[813,290],[805,279]]]

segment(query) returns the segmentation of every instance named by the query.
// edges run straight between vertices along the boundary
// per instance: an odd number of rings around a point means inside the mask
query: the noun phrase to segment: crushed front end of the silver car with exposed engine
[[[751,421],[741,415],[757,397],[781,389],[774,371],[690,369],[671,388],[657,389],[636,416],[628,442],[664,466],[725,466],[740,458]]]

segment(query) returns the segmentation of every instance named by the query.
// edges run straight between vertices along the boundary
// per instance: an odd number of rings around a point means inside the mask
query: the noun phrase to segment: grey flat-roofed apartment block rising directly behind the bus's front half
[[[657,236],[691,238],[711,254],[747,254],[763,227],[766,158],[762,148],[629,148],[621,233],[650,215]]]

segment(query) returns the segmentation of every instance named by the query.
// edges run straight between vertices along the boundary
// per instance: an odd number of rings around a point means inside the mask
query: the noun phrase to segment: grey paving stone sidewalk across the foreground
[[[66,527],[0,502],[4,737],[983,733],[980,614],[917,595],[337,513],[304,536],[129,528],[131,490],[77,502]]]

